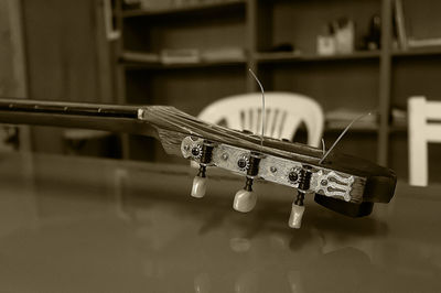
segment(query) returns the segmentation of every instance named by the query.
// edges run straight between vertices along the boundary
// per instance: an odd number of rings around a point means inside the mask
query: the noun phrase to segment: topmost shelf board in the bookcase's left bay
[[[208,12],[218,11],[222,9],[235,9],[245,8],[244,0],[227,0],[223,2],[213,2],[205,4],[192,4],[185,7],[172,7],[165,9],[148,10],[148,9],[133,9],[121,12],[122,18],[135,18],[135,17],[160,17],[171,14],[186,14],[193,12]]]

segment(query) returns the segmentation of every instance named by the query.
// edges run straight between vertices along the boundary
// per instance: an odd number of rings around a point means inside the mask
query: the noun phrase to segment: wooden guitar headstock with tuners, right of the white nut
[[[363,159],[333,152],[323,161],[323,151],[316,148],[270,138],[261,142],[258,135],[209,124],[169,107],[149,107],[141,117],[155,121],[166,151],[200,165],[192,196],[205,195],[207,166],[244,176],[244,188],[233,203],[241,213],[256,205],[255,180],[297,191],[289,218],[292,228],[301,226],[303,199],[309,194],[320,205],[351,217],[369,215],[374,203],[388,203],[394,196],[395,173]]]

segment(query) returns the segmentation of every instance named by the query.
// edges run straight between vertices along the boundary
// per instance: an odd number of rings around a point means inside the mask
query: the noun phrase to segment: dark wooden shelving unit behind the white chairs
[[[419,9],[424,3],[441,8],[441,3],[402,2],[406,18],[412,19],[412,25],[418,24],[418,30],[409,30],[416,36],[423,31],[421,25],[438,21],[421,17]],[[326,112],[338,108],[376,111],[377,121],[354,128],[345,139],[351,142],[342,143],[341,151],[406,170],[402,151],[396,151],[404,140],[394,138],[406,134],[406,126],[390,121],[391,108],[406,109],[411,95],[437,98],[435,94],[441,93],[441,47],[392,48],[394,0],[230,0],[151,11],[122,10],[121,0],[117,3],[117,23],[122,32],[117,52],[121,102],[168,104],[197,115],[218,98],[257,91],[247,70],[252,68],[267,91],[304,94],[316,99]],[[358,42],[374,14],[380,15],[383,24],[378,51],[332,56],[315,53],[315,36],[327,21],[340,17],[354,20]],[[432,25],[434,31],[441,26],[438,22]],[[270,52],[281,43],[291,43],[295,50]],[[240,59],[173,65],[123,58],[126,51],[159,54],[162,48],[214,47],[239,47],[246,54]],[[333,141],[341,130],[327,128],[325,140]],[[137,153],[146,150],[142,143],[127,139],[126,156],[143,158]],[[148,159],[162,160],[159,149],[154,146],[157,154]],[[402,171],[399,175],[406,174]]]

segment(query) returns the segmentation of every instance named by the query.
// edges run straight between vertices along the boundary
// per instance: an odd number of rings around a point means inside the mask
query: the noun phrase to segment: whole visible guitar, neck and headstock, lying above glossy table
[[[57,126],[127,132],[158,139],[169,154],[181,155],[200,165],[192,196],[206,193],[206,167],[217,166],[246,177],[233,207],[250,211],[257,196],[255,180],[297,189],[289,226],[300,228],[303,199],[314,200],[336,213],[363,217],[374,203],[389,203],[396,186],[395,173],[366,160],[330,153],[301,143],[270,138],[203,122],[168,106],[117,106],[0,99],[0,122]]]

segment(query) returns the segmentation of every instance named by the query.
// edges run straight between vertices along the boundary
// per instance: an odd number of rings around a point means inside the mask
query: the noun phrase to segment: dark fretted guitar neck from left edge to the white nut
[[[155,137],[152,124],[138,119],[139,110],[138,106],[0,99],[0,122],[85,128]]]

